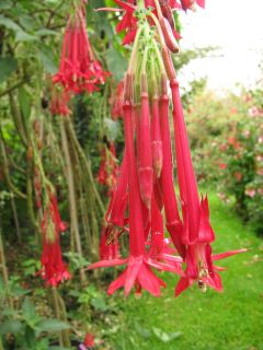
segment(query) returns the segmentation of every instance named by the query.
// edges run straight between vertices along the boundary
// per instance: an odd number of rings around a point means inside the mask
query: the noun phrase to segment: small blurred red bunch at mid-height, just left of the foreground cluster
[[[100,185],[106,186],[110,190],[115,186],[117,178],[117,160],[114,142],[103,144],[101,151],[101,164],[98,174],[98,182]]]

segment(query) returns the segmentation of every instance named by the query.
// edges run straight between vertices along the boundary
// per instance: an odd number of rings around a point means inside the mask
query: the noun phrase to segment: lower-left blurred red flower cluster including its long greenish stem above
[[[47,285],[57,287],[64,280],[70,279],[67,265],[62,261],[60,249],[60,233],[67,230],[61,220],[57,203],[57,196],[52,183],[46,178],[39,151],[42,149],[39,120],[33,122],[34,137],[30,148],[31,160],[34,160],[34,191],[36,207],[39,210],[42,232],[42,269],[37,275],[46,281]],[[28,155],[28,154],[27,154]]]

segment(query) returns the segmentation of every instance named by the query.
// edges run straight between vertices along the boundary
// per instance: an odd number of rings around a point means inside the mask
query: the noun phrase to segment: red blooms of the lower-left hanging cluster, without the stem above
[[[49,194],[49,202],[44,211],[42,221],[43,254],[42,278],[47,285],[57,287],[64,280],[70,279],[67,266],[62,261],[59,245],[59,235],[67,230],[67,224],[61,221],[56,195]]]

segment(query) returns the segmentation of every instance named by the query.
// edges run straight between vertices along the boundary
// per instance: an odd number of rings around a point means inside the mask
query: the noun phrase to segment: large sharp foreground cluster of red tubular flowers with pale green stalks
[[[175,3],[163,2],[165,5]],[[168,30],[160,3],[158,0],[153,2],[157,15],[147,9],[144,1],[136,8],[137,31],[123,101],[125,152],[106,214],[107,230],[113,240],[123,232],[129,233],[129,256],[125,259],[102,259],[89,267],[127,265],[108,287],[108,294],[124,287],[127,295],[135,287],[136,294],[145,289],[159,296],[160,288],[165,283],[153,273],[152,268],[180,276],[175,295],[194,282],[202,290],[209,285],[221,291],[218,275],[221,268],[216,267],[214,261],[245,252],[240,249],[213,255],[210,244],[215,241],[215,233],[209,222],[208,199],[198,195],[179,83],[170,55],[174,51],[174,36]],[[128,8],[134,7],[129,1]],[[173,179],[169,85],[179,200]],[[164,238],[164,224],[174,247]],[[185,270],[183,264],[186,265]]]

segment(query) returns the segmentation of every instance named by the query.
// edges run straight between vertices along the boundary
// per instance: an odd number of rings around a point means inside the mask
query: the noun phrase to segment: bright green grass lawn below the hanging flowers
[[[252,248],[219,261],[229,268],[220,272],[224,293],[202,293],[195,285],[175,299],[179,278],[168,273],[160,299],[145,292],[124,301],[118,292],[122,311],[110,329],[114,350],[263,350],[263,241],[215,194],[209,205],[214,252]]]

